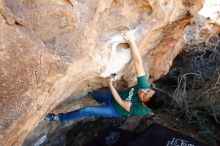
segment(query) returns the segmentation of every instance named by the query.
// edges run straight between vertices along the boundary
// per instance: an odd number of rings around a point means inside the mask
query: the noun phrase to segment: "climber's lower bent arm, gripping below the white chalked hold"
[[[129,101],[124,101],[121,99],[120,95],[118,94],[118,92],[116,91],[116,89],[114,88],[114,86],[112,85],[112,81],[111,79],[107,79],[108,85],[109,85],[109,89],[114,97],[114,99],[116,100],[116,102],[123,107],[126,111],[130,111],[130,107],[131,107],[131,102]]]

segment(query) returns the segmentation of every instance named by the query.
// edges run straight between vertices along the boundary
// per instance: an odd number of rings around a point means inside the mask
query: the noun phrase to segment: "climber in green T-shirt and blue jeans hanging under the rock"
[[[123,34],[123,37],[131,47],[137,73],[137,84],[124,91],[117,92],[112,84],[112,79],[107,78],[110,91],[89,93],[97,102],[102,103],[101,105],[87,106],[68,113],[48,113],[44,117],[46,121],[66,122],[88,116],[121,117],[151,113],[151,109],[147,107],[147,104],[155,94],[155,91],[149,88],[148,77],[145,74],[142,58],[134,36],[127,32]]]

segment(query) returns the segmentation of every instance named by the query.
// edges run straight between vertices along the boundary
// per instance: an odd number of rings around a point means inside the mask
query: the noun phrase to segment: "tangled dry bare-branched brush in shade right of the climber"
[[[219,40],[217,40],[217,43]],[[177,77],[173,104],[212,145],[220,140],[220,47],[208,43]]]

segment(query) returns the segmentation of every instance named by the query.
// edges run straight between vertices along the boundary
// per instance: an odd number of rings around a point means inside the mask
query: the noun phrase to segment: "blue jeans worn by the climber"
[[[103,116],[103,117],[120,117],[121,114],[116,111],[112,105],[113,96],[110,91],[96,91],[89,94],[99,103],[105,103],[105,105],[99,106],[87,106],[81,109],[71,111],[68,113],[59,113],[58,117],[61,122],[77,120],[82,117],[88,116]]]

